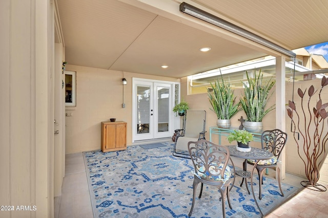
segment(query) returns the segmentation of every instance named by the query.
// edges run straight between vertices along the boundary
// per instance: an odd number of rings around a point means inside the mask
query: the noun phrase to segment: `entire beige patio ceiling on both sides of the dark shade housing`
[[[328,1],[185,1],[289,49],[328,41]],[[66,61],[180,78],[278,52],[179,11],[179,0],[56,0]],[[201,47],[212,49],[203,53]],[[160,66],[169,68],[162,69]]]

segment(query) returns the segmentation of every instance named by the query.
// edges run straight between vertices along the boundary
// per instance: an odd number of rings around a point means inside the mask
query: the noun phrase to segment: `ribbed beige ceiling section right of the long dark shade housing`
[[[286,49],[328,41],[328,1],[196,0]]]

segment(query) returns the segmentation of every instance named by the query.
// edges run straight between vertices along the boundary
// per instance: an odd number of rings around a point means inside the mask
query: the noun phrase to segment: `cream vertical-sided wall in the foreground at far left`
[[[15,209],[1,217],[53,216],[51,7],[50,1],[0,1],[0,205]]]

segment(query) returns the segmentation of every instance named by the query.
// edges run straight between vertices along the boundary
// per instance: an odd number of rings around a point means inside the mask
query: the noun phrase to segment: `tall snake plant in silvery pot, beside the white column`
[[[244,95],[240,99],[242,110],[246,114],[244,128],[250,132],[262,131],[262,119],[265,115],[275,109],[275,104],[266,108],[267,103],[273,93],[270,93],[276,81],[270,78],[267,82],[262,82],[263,74],[261,70],[258,75],[254,70],[254,77],[250,78],[246,72],[248,83],[242,82]]]

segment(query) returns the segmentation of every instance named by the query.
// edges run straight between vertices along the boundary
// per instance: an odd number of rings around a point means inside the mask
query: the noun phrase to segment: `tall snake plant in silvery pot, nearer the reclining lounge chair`
[[[234,96],[234,90],[231,87],[230,82],[223,80],[215,80],[212,84],[212,92],[208,90],[208,96],[212,105],[211,110],[215,112],[217,116],[217,126],[220,128],[229,128],[231,126],[231,118],[241,111],[240,102],[235,103],[236,97]]]

